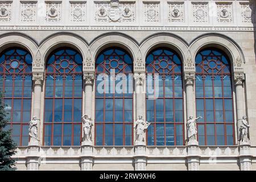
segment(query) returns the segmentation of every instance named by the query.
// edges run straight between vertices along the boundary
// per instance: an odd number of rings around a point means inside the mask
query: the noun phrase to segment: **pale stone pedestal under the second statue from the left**
[[[81,158],[81,171],[92,171],[93,146],[91,141],[82,142],[80,158]]]

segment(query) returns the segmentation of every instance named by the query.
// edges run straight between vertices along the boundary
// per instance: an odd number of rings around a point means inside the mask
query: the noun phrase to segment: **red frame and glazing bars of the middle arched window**
[[[112,52],[112,54],[110,55],[105,55],[105,52],[107,51],[111,51],[111,50],[114,50]],[[119,54],[117,51],[122,51],[123,52],[123,55]],[[101,57],[103,56],[103,57]],[[110,69],[113,69],[113,67],[110,65],[110,62],[113,61],[111,59],[112,56],[115,56],[115,58],[113,60],[116,60],[118,62],[118,65],[117,65],[117,68],[114,68],[115,69],[115,76],[117,76],[118,73],[123,73],[125,74],[126,76],[128,76],[129,74],[133,73],[133,61],[131,59],[131,56],[129,53],[127,53],[127,51],[125,51],[124,49],[122,48],[119,48],[119,47],[111,47],[111,48],[108,48],[108,49],[105,49],[104,51],[102,51],[98,57],[97,57],[97,60],[96,60],[96,80],[97,80],[97,77],[98,75],[100,75],[101,73],[105,73],[106,75],[109,76],[110,78]],[[126,59],[128,56],[129,58],[129,61],[130,63],[127,63],[126,62]],[[100,60],[101,63],[100,64],[97,64],[97,61]],[[122,68],[119,68],[121,65]],[[126,71],[126,68],[131,68],[130,71]],[[98,69],[103,69],[102,71],[99,71]],[[111,78],[110,78],[111,79]],[[133,79],[133,78],[132,78]],[[109,85],[110,85],[110,82],[109,82]],[[97,89],[97,81],[96,81],[96,89]],[[104,88],[105,89],[105,88]],[[115,92],[115,84],[113,84],[113,90]],[[109,90],[110,92],[110,90]],[[128,89],[127,89],[127,92],[128,92]],[[127,146],[126,144],[126,137],[131,137],[131,146],[133,145],[133,115],[134,115],[134,107],[133,107],[133,94],[129,94],[129,96],[127,96],[125,93],[122,94],[122,96],[117,96],[115,95],[116,93],[111,93],[112,96],[110,97],[109,94],[108,96],[106,96],[108,93],[105,93],[104,92],[104,96],[97,96],[97,93],[96,93],[96,96],[95,96],[95,101],[97,99],[102,99],[104,100],[104,119],[103,119],[103,122],[98,122],[97,119],[95,121],[95,130],[94,130],[94,143],[95,145],[97,145],[97,136],[100,136],[102,137],[102,146],[106,146],[105,144],[105,137],[107,137],[107,135],[105,134],[105,126],[110,124],[110,125],[113,125],[113,134],[112,134],[112,137],[113,137],[113,146],[115,146],[115,137],[117,137],[118,135],[115,134],[115,126],[118,125],[118,124],[122,124],[123,125],[123,134],[122,134],[122,140],[123,140],[123,144],[122,146]],[[113,121],[112,122],[106,122],[105,121],[105,112],[106,112],[106,108],[105,108],[105,102],[107,99],[112,99],[113,100]],[[123,109],[122,109],[122,117],[123,117],[123,121],[122,122],[116,122],[115,121],[115,99],[122,99],[123,100]],[[125,110],[125,100],[126,99],[131,99],[132,101],[132,109],[131,110]],[[95,106],[95,115],[96,115],[96,106]],[[118,110],[119,111],[119,110]],[[131,111],[131,122],[126,122],[125,121],[125,111]],[[102,125],[102,135],[98,135],[97,134],[97,126],[101,126]],[[131,135],[126,135],[125,133],[125,127],[126,126],[131,126]],[[109,135],[108,135],[109,136]]]

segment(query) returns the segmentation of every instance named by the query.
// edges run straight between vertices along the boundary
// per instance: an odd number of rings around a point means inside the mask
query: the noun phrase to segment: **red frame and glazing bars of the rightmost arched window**
[[[204,51],[210,51],[207,55],[203,54]],[[214,53],[214,51],[217,51],[218,53]],[[220,49],[217,48],[205,48],[201,50],[199,53],[197,53],[197,56],[200,55],[202,59],[196,58],[196,80],[197,76],[202,78],[203,81],[203,97],[196,96],[196,103],[198,100],[204,100],[204,110],[199,110],[199,105],[196,104],[196,111],[204,111],[204,118],[200,119],[199,122],[197,122],[197,130],[199,131],[199,126],[204,126],[204,135],[202,135],[200,132],[197,134],[197,140],[199,140],[199,137],[204,137],[204,145],[208,145],[208,139],[207,137],[209,136],[214,136],[214,145],[220,145],[217,144],[217,137],[223,136],[223,135],[217,135],[217,125],[224,125],[224,145],[227,145],[227,137],[232,136],[233,137],[233,144],[235,143],[235,131],[234,131],[234,98],[233,98],[233,84],[232,84],[232,71],[231,71],[231,65],[230,65],[230,60],[229,57],[226,55],[225,52],[221,51]],[[211,59],[209,59],[211,57]],[[210,66],[210,61],[213,61],[216,64],[216,67],[211,67]],[[200,63],[199,63],[200,62]],[[228,63],[225,63],[228,62]],[[214,64],[213,64],[214,65]],[[228,76],[230,78],[230,96],[231,97],[225,97],[225,90],[228,87],[224,83],[224,77]],[[205,90],[205,78],[206,77],[211,77],[212,80],[212,97],[206,96],[206,90]],[[214,87],[214,79],[218,77],[221,78],[221,95],[222,97],[216,97],[215,95],[215,87]],[[216,81],[216,80],[215,80]],[[197,82],[197,81],[196,81]],[[218,85],[217,85],[218,86]],[[197,90],[197,87],[200,87],[195,83],[195,90]],[[225,88],[226,87],[226,88]],[[227,92],[227,91],[226,91]],[[230,110],[225,109],[225,100],[232,100],[232,108]],[[209,121],[207,118],[207,100],[213,100],[213,117],[214,121]],[[222,100],[222,110],[217,110],[217,100]],[[222,111],[223,112],[223,122],[217,122],[216,119],[216,112],[217,111]],[[226,122],[226,111],[232,111],[232,117],[233,117],[233,122]],[[199,117],[200,115],[197,115]],[[203,122],[202,122],[203,121]],[[207,135],[207,125],[214,126],[214,135]],[[232,131],[233,135],[228,135],[227,134],[227,126],[232,126]]]

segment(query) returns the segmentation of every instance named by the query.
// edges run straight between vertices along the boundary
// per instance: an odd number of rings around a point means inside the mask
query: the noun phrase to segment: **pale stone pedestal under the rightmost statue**
[[[239,161],[241,171],[251,171],[250,142],[239,143]]]

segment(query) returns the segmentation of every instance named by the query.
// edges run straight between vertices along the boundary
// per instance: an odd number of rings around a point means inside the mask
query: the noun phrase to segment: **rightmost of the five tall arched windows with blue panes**
[[[228,56],[207,48],[196,56],[196,113],[200,145],[234,144],[231,67]]]

